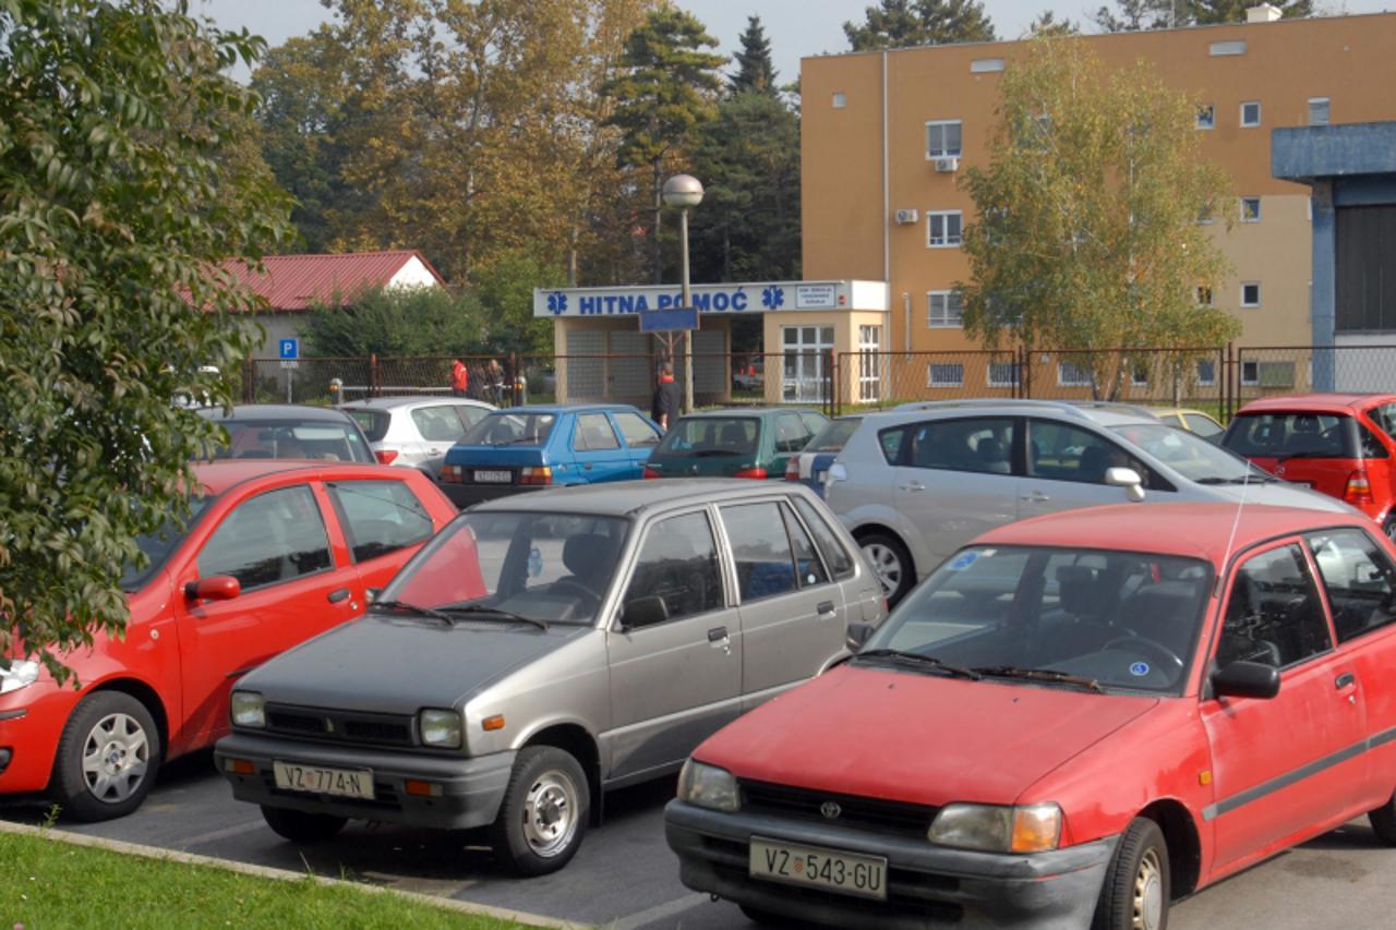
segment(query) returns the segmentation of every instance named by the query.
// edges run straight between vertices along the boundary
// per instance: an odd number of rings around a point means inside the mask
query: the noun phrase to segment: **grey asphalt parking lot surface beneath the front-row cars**
[[[684,888],[663,836],[674,779],[616,792],[606,824],[563,871],[519,880],[500,873],[475,832],[350,824],[331,842],[297,846],[232,799],[208,753],[165,769],[145,806],[105,824],[66,829],[235,862],[355,878],[405,891],[543,913],[611,930],[744,930],[734,905]],[[39,822],[34,802],[0,802],[0,818]],[[1365,820],[1314,839],[1177,905],[1173,930],[1386,930],[1396,924],[1396,849]]]

